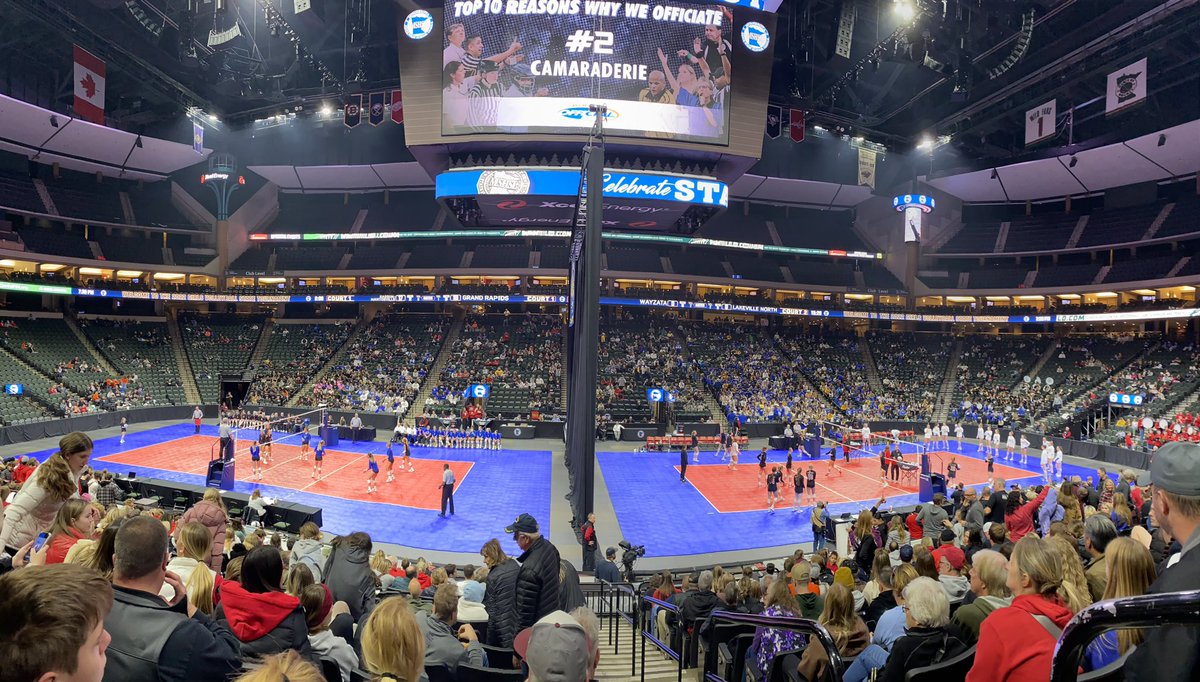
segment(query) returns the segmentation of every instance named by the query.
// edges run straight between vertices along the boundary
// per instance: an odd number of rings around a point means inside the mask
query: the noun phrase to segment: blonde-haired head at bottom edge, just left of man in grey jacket
[[[384,599],[362,627],[362,664],[374,682],[418,682],[425,636],[404,599]]]

